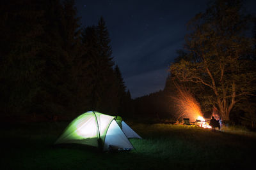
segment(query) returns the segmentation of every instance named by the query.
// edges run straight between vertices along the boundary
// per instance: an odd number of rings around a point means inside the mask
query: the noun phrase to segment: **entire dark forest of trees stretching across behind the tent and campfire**
[[[177,118],[173,96],[177,95],[179,85],[193,93],[205,117],[210,117],[216,108],[223,117],[228,115],[225,117],[228,122],[255,128],[256,45],[252,40],[256,36],[255,19],[239,13],[242,6],[239,1],[222,6],[227,7],[226,11],[218,11],[222,8],[218,1],[218,7],[213,5],[192,18],[188,24],[192,33],[186,36],[184,49],[177,50],[164,89],[136,99],[131,99],[113,61],[104,17],[99,18],[97,25],[81,25],[74,1],[69,0],[3,3],[0,15],[3,120],[15,117],[25,122],[63,121],[96,110],[126,118],[140,117],[146,122],[170,123]],[[223,15],[229,25],[220,21]],[[209,24],[216,27],[209,28]],[[196,30],[198,27],[201,32]],[[246,30],[253,38],[244,36]],[[220,46],[210,49],[213,42],[219,42]],[[222,57],[212,57],[216,51]],[[209,55],[202,57],[202,53]],[[220,80],[214,83],[213,93],[207,83],[212,80],[202,70],[203,62],[208,63],[205,66],[211,69],[214,78]],[[214,68],[219,66],[223,69]],[[199,76],[205,78],[204,82]],[[235,84],[239,90],[228,101]],[[223,99],[227,99],[226,105],[232,105],[227,113],[227,108],[221,105]]]

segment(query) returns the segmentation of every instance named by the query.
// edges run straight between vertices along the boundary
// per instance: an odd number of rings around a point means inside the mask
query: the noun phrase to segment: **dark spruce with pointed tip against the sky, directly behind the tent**
[[[116,76],[106,24],[101,17],[97,26],[86,27],[83,44],[87,59],[90,60],[92,80],[92,110],[115,114],[118,108]]]

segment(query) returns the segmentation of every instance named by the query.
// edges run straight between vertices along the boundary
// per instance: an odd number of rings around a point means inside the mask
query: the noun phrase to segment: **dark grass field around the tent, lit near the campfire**
[[[130,124],[136,150],[99,152],[53,145],[67,123],[1,125],[0,169],[246,169],[255,166],[255,134],[164,124]]]

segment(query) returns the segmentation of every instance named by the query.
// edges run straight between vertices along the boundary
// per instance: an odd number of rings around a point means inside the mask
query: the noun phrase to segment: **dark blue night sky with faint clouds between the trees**
[[[245,1],[248,11],[255,8],[253,1]],[[114,61],[135,98],[164,88],[168,66],[188,33],[186,24],[205,11],[207,2],[76,0],[76,8],[82,26],[97,25],[104,17]]]

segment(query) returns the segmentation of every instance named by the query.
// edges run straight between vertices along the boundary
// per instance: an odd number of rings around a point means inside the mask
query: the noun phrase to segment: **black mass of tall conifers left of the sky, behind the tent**
[[[1,115],[52,118],[121,111],[127,92],[103,17],[82,27],[74,0],[3,3]]]

